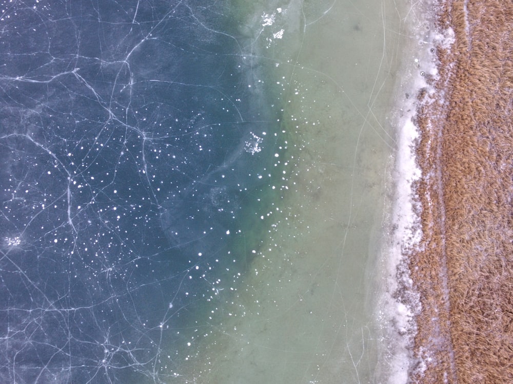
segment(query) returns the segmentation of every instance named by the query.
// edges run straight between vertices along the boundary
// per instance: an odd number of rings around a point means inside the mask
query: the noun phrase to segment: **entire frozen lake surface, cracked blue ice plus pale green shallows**
[[[2,7],[2,381],[386,381],[406,4]]]

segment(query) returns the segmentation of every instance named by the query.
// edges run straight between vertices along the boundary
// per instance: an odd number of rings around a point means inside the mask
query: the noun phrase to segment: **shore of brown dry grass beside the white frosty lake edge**
[[[447,0],[437,92],[419,97],[422,383],[513,383],[513,2]]]

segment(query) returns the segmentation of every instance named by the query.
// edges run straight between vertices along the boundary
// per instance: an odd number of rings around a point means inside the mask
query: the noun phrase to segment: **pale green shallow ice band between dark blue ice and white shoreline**
[[[283,178],[269,185],[274,204],[250,273],[218,292],[223,321],[195,340],[180,377],[380,382],[388,351],[373,299],[406,11],[392,1],[293,0],[241,1],[239,12],[248,79],[272,82],[284,102]]]

